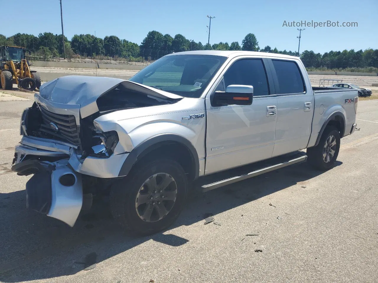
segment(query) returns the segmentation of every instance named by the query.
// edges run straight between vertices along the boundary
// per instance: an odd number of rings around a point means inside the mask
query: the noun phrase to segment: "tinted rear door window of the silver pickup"
[[[302,93],[304,81],[298,65],[293,61],[272,60],[280,86],[277,94]]]

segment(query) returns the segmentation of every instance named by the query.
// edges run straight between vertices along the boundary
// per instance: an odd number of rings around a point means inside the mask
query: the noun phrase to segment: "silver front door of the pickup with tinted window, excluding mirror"
[[[253,102],[214,107],[207,95],[205,175],[267,159],[273,153],[277,98],[270,96],[263,60],[235,60],[216,90],[228,85],[252,85]]]

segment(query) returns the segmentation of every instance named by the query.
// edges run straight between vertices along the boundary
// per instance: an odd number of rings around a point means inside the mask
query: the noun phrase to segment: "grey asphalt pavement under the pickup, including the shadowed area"
[[[194,191],[174,226],[141,238],[118,228],[106,200],[73,228],[26,209],[29,177],[10,168],[32,103],[0,102],[0,281],[378,282],[378,100],[358,103],[360,129],[331,170],[302,163]],[[219,225],[204,225],[208,213]]]

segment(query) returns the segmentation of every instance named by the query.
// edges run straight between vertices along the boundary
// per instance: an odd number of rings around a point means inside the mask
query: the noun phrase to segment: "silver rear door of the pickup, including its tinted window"
[[[307,147],[314,97],[304,66],[296,59],[271,59],[277,94],[276,141],[273,156]]]

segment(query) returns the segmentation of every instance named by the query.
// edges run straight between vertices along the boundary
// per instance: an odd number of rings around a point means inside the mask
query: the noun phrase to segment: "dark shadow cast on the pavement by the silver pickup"
[[[336,161],[335,166],[341,164]],[[265,195],[298,183],[305,184],[321,173],[311,169],[307,163],[302,163],[206,193],[194,189],[189,195],[186,209],[170,229],[202,222],[206,213],[212,213],[216,218],[219,213]],[[96,252],[96,262],[99,263],[149,240],[169,246],[181,246],[188,242],[169,232],[150,237],[125,234],[113,221],[105,200],[97,201],[91,211],[82,213],[74,228],[26,210],[25,191],[0,194],[0,215],[2,282],[42,280],[76,274],[83,270],[81,262],[85,256],[93,252]]]

